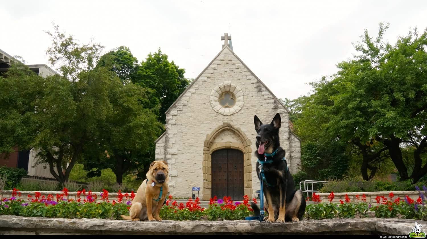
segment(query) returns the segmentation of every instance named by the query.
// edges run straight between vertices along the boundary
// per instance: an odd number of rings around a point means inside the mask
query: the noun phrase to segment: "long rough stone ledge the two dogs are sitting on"
[[[302,220],[283,224],[257,221],[169,221],[131,222],[105,219],[52,219],[0,216],[0,235],[167,235],[167,234],[389,234],[407,235],[426,221],[406,219],[326,219]]]

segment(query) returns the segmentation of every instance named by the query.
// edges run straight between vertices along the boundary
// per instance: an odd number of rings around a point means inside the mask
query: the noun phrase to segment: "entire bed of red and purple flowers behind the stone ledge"
[[[334,203],[335,195],[331,192],[328,195],[329,202],[321,202],[320,196],[316,193],[312,200],[314,204],[307,204],[305,219],[333,219],[333,218],[355,218],[356,216],[366,217],[368,212],[374,212],[378,218],[405,218],[405,219],[427,219],[427,188],[424,191],[416,188],[419,192],[418,199],[414,200],[409,196],[403,199],[395,197],[393,192],[388,197],[377,196],[375,204],[366,201],[366,195],[355,195],[356,202],[351,202],[348,195],[345,200]],[[100,218],[100,219],[121,219],[120,215],[129,215],[129,208],[132,205],[134,192],[117,192],[117,200],[109,200],[109,192],[97,195],[85,190],[76,192],[76,200],[67,199],[68,190],[64,188],[61,194],[49,194],[47,197],[35,192],[35,197],[28,195],[24,197],[18,189],[12,191],[12,197],[1,198],[0,215],[15,216],[41,216],[50,218]],[[256,203],[256,199],[252,199]],[[178,204],[172,200],[170,195],[166,204],[160,211],[160,216],[165,220],[243,220],[247,216],[252,216],[252,208],[249,205],[248,196],[244,197],[243,203],[234,202],[230,197],[223,199],[211,198],[208,208],[200,207],[200,200],[188,199],[187,203]]]

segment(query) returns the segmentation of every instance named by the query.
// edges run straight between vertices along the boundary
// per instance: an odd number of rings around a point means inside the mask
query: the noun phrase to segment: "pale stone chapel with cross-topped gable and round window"
[[[300,169],[301,142],[288,109],[233,52],[231,36],[221,40],[222,50],[166,111],[166,131],[155,141],[155,159],[168,162],[169,192],[178,198],[191,197],[193,187],[201,200],[256,196],[255,114],[264,124],[280,114],[290,172]]]

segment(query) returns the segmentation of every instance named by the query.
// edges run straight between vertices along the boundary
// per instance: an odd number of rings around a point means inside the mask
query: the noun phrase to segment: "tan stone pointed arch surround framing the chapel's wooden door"
[[[218,137],[222,132],[230,131],[234,133],[240,142],[215,142],[216,137]],[[203,147],[203,191],[202,191],[202,200],[209,200],[211,198],[211,189],[212,189],[212,152],[218,149],[237,149],[243,152],[243,183],[244,183],[244,193],[248,195],[249,198],[252,197],[252,149],[251,149],[251,140],[246,137],[246,134],[243,133],[240,128],[236,128],[230,123],[224,122],[222,125],[216,127],[211,134],[206,135],[205,146]]]

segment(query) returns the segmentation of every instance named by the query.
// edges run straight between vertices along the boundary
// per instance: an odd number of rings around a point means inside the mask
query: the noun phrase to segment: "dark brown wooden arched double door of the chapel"
[[[212,153],[212,198],[230,196],[243,200],[243,152],[237,149],[219,149]]]

